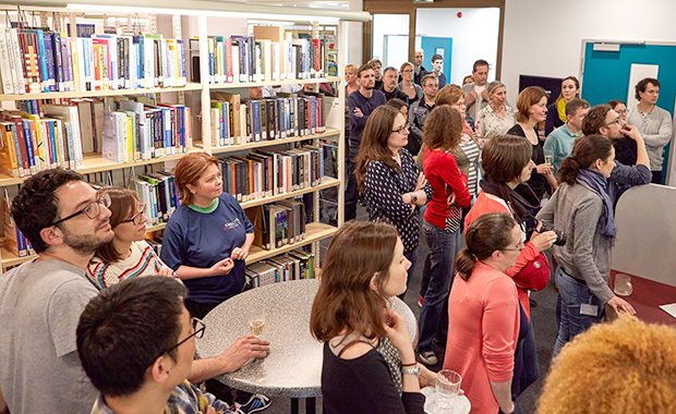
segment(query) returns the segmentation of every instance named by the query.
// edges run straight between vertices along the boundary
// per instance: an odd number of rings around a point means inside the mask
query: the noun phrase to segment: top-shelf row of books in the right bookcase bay
[[[210,84],[328,76],[328,41],[293,39],[282,26],[254,26],[253,36],[208,36]],[[189,40],[191,81],[201,82],[200,38]]]

